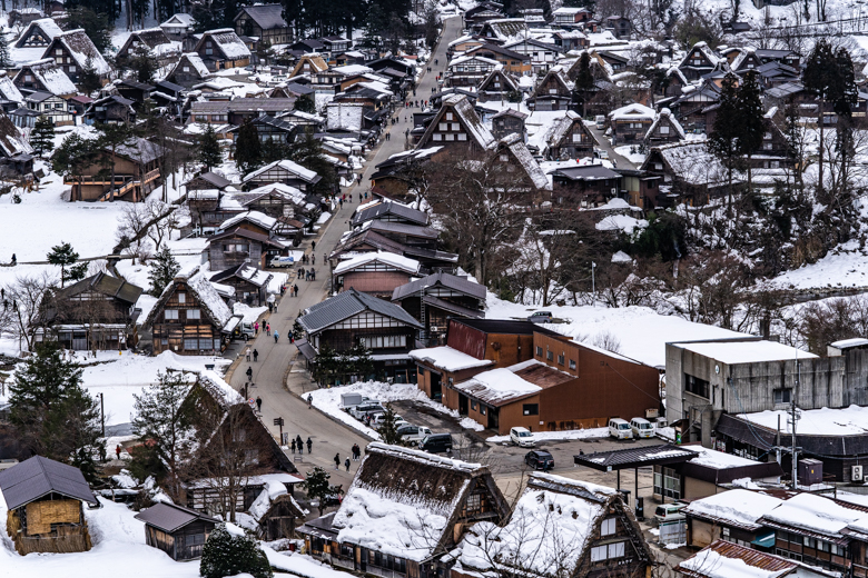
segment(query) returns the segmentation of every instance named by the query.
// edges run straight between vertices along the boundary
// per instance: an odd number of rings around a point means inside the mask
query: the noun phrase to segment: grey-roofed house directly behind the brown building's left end
[[[485,287],[466,277],[437,271],[396,287],[392,302],[424,326],[417,340],[422,347],[436,347],[446,343],[450,318],[485,315]]]

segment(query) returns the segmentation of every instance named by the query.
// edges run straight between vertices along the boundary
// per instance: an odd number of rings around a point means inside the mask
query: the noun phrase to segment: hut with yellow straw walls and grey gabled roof
[[[0,491],[9,509],[6,528],[18,554],[90,549],[82,502],[99,502],[78,468],[33,456],[0,471]]]

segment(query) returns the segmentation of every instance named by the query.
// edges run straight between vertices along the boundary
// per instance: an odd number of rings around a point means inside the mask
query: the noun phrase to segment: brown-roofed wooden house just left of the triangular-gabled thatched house
[[[43,300],[37,340],[75,351],[136,347],[141,287],[106,272],[57,289]],[[45,329],[43,329],[45,328]]]

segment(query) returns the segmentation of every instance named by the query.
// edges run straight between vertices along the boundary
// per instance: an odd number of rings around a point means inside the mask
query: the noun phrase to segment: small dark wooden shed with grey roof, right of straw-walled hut
[[[205,540],[220,521],[205,514],[159,502],[136,515],[145,522],[145,542],[159,548],[174,560],[193,560],[201,556]]]

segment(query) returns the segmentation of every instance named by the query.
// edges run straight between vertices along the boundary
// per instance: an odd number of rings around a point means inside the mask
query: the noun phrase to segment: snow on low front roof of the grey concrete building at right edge
[[[758,411],[756,413],[739,413],[757,426],[777,431],[780,418],[781,431],[791,431],[788,411]],[[796,423],[796,432],[803,436],[859,436],[868,431],[868,408],[850,406],[848,408],[807,409],[801,410]]]

